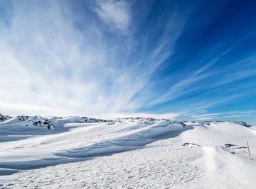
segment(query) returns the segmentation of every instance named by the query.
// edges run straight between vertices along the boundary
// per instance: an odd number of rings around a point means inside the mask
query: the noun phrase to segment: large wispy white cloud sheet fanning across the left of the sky
[[[131,99],[173,53],[184,17],[173,10],[163,21],[161,40],[144,48],[150,38],[135,39],[133,33],[116,36],[116,31],[108,30],[129,30],[129,1],[97,1],[96,7],[107,26],[99,23],[95,6],[85,6],[92,10],[77,18],[68,1],[13,2],[10,24],[0,37],[2,113],[134,113],[140,105]],[[166,43],[169,33],[172,38]],[[169,115],[174,118],[176,113]]]

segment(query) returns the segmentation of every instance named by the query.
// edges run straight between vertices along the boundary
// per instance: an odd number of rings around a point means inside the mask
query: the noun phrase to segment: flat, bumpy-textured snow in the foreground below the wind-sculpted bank
[[[100,156],[7,176],[10,188],[183,188],[203,176],[191,164],[200,148],[181,147],[180,137],[164,139],[143,149]],[[9,178],[9,179],[8,179]],[[181,187],[182,186],[182,187]]]

